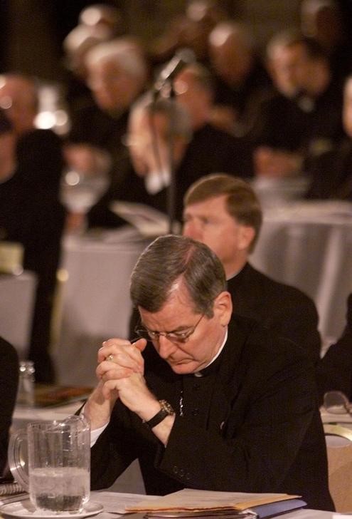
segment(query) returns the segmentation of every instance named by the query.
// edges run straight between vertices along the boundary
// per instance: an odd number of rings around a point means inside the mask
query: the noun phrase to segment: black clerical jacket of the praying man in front
[[[92,488],[106,488],[139,463],[146,493],[184,487],[302,495],[332,510],[314,369],[298,346],[252,320],[233,317],[218,358],[179,376],[153,346],[145,377],[176,410],[166,448],[121,401],[92,448]],[[183,416],[180,416],[182,397]]]

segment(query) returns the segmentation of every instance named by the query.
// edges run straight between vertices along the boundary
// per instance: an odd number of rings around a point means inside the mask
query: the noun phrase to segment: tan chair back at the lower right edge
[[[325,424],[329,489],[336,512],[352,512],[352,429]]]

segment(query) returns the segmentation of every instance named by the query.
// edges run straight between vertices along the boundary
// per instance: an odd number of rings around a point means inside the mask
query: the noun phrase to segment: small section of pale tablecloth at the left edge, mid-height
[[[11,342],[21,358],[29,346],[36,274],[0,275],[0,335]]]

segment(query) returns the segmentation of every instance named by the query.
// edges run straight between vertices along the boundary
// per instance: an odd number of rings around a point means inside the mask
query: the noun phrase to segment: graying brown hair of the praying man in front
[[[223,265],[213,251],[186,236],[166,235],[146,247],[130,284],[134,307],[159,312],[182,282],[196,313],[213,317],[215,297],[226,290]]]

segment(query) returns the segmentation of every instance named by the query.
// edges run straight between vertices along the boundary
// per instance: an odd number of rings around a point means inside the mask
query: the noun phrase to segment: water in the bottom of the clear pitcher
[[[33,468],[29,485],[40,510],[78,512],[90,497],[90,473],[84,468]]]

